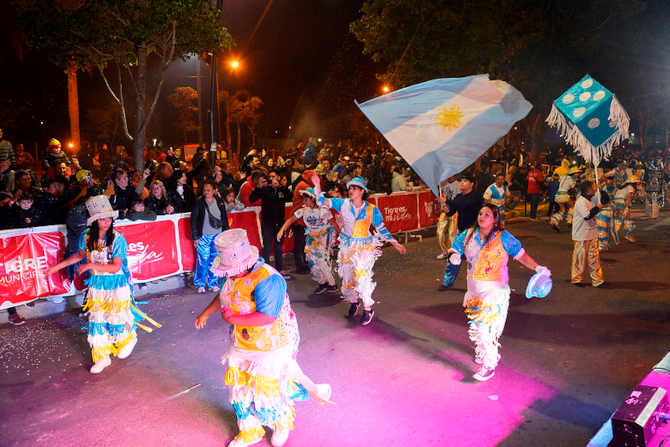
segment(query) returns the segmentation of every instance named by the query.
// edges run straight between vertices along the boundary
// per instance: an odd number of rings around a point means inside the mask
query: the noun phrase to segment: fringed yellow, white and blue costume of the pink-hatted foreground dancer
[[[247,445],[262,439],[263,426],[275,432],[292,430],[294,401],[307,400],[310,392],[327,401],[330,386],[314,384],[296,361],[298,322],[277,270],[258,258],[246,276],[224,281],[222,308],[236,315],[261,312],[276,318],[265,326],[232,326],[231,348],[222,359],[240,429],[231,445]]]

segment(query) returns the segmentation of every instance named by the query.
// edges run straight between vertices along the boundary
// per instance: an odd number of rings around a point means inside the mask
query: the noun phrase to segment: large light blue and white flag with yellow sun
[[[488,74],[433,79],[356,103],[430,189],[463,171],[533,107]]]

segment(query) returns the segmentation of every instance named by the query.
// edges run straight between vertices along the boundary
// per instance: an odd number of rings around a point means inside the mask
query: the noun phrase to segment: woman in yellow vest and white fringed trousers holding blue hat
[[[449,249],[450,262],[468,263],[468,288],[463,307],[468,317],[470,340],[475,344],[475,363],[482,365],[473,377],[484,381],[493,377],[500,361],[498,339],[502,335],[509,307],[509,256],[536,272],[551,275],[522,248],[521,242],[504,230],[500,211],[487,203],[479,210],[476,223],[461,232]]]

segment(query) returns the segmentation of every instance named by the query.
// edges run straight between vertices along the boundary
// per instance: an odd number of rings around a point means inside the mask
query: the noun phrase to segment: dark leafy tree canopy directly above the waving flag
[[[368,0],[350,25],[393,88],[489,73],[534,104],[537,145],[551,101],[603,62],[603,34],[637,17],[640,0]]]

